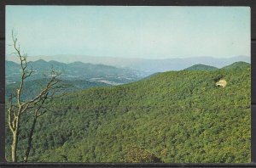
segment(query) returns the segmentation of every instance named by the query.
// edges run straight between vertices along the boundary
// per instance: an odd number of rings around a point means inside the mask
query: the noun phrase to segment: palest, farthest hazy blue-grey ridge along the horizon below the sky
[[[15,62],[18,61],[15,56],[7,56],[6,59]],[[38,59],[44,59],[46,61],[61,60],[61,62],[66,64],[70,64],[78,60],[83,63],[105,64],[118,68],[141,70],[143,71],[143,76],[149,76],[155,72],[183,70],[195,64],[207,64],[210,66],[215,66],[217,68],[222,68],[225,65],[232,64],[238,61],[251,63],[251,58],[248,56],[236,56],[229,59],[218,59],[213,57],[194,57],[185,59],[124,59],[114,57],[92,57],[86,55],[54,55],[29,57],[29,60],[31,61],[35,61]]]

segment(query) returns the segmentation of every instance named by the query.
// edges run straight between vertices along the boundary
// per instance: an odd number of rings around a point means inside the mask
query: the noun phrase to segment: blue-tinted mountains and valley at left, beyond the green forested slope
[[[47,62],[43,59],[39,59],[27,63],[27,70],[31,68],[35,70],[35,72],[28,80],[44,78],[44,74],[49,74],[51,68],[61,71],[61,78],[64,80],[99,81],[111,85],[137,81],[143,77],[143,74],[139,70],[116,68],[105,64],[85,64],[82,62],[65,64],[57,61]],[[20,80],[20,64],[5,61],[5,70],[7,83]]]

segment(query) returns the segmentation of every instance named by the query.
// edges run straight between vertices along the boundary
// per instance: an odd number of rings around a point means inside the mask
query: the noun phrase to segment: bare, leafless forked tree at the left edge
[[[44,115],[45,112],[49,111],[48,107],[45,105],[47,101],[53,100],[54,98],[60,97],[60,93],[63,90],[63,87],[59,85],[61,75],[55,70],[51,70],[50,79],[47,82],[46,86],[30,100],[22,100],[21,95],[24,89],[24,82],[26,78],[32,76],[34,70],[27,70],[27,61],[26,54],[20,53],[20,45],[17,44],[17,37],[14,32],[12,32],[13,46],[15,48],[15,54],[20,59],[20,86],[17,88],[15,94],[10,95],[9,97],[9,107],[8,107],[8,124],[9,129],[13,135],[13,142],[11,145],[11,158],[13,162],[17,162],[17,147],[20,134],[20,117],[23,114],[32,114],[32,126],[29,131],[29,137],[27,142],[26,154],[24,157],[24,162],[27,162],[30,150],[32,148],[32,136],[35,130],[35,126],[38,120],[38,117]]]

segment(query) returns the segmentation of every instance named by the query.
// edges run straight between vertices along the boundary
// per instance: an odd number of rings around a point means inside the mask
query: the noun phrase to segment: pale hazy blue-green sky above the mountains
[[[7,44],[12,29],[28,55],[250,56],[247,7],[7,6]]]

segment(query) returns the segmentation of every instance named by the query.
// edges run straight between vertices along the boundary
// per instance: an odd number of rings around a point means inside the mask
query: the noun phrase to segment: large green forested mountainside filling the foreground
[[[219,79],[226,87],[216,87]],[[48,104],[34,162],[250,162],[251,68],[169,71]],[[23,118],[23,121],[26,117]],[[22,126],[22,160],[31,121]],[[6,136],[10,158],[10,133]]]

